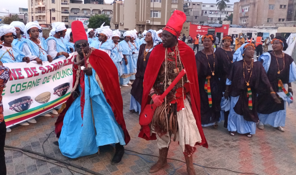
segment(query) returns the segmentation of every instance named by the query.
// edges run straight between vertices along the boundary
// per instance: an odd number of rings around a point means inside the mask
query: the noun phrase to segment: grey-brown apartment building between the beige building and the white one
[[[186,22],[203,23],[207,21],[206,16],[202,16],[203,2],[184,1],[183,12],[186,14]]]

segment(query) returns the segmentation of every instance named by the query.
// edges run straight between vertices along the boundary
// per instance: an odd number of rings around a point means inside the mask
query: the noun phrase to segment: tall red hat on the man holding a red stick
[[[175,10],[173,15],[169,18],[168,23],[163,30],[166,30],[173,35],[179,37],[183,24],[186,21],[186,15],[180,10]]]

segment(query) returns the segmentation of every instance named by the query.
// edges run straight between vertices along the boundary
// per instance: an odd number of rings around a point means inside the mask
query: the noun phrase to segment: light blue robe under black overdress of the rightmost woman
[[[270,53],[264,53],[259,58],[258,61],[263,60],[263,67],[266,73],[269,70],[270,62],[271,62],[271,55]],[[296,65],[294,62],[290,64],[290,72],[289,72],[289,83],[292,83],[296,81]],[[285,88],[287,88],[287,85],[284,84]],[[271,114],[260,114],[258,113],[258,117],[260,122],[262,122],[264,125],[271,125],[273,127],[279,127],[279,126],[285,126],[286,122],[286,102],[284,102],[284,110],[279,110],[276,112],[273,112]]]

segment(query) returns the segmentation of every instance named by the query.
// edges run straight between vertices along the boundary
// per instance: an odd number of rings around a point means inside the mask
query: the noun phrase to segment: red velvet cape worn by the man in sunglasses
[[[110,56],[101,50],[94,50],[89,56],[89,63],[93,69],[97,72],[101,83],[104,88],[104,96],[112,108],[113,114],[115,116],[116,122],[121,126],[124,133],[124,141],[127,144],[131,138],[127,132],[125,121],[123,119],[123,101],[120,91],[120,85],[118,81],[118,71],[117,68],[110,58]],[[74,65],[74,68],[78,68],[77,65]],[[83,71],[81,71],[82,73]],[[95,73],[95,72],[93,72]],[[84,73],[82,73],[84,78]],[[73,87],[76,81],[76,70],[73,69]],[[55,133],[57,137],[61,134],[64,116],[66,111],[69,109],[73,103],[73,95],[71,94],[70,98],[66,102],[66,108],[59,115],[57,121],[55,122]],[[83,109],[82,109],[83,110]],[[94,109],[95,110],[95,109]]]

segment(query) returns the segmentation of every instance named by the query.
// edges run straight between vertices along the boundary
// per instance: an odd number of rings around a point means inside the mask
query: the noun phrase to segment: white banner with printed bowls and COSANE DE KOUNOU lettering
[[[34,62],[3,64],[11,71],[9,81],[2,92],[7,127],[66,102],[73,83],[74,53],[69,55],[67,59],[61,57],[51,63],[44,61],[43,65]]]

